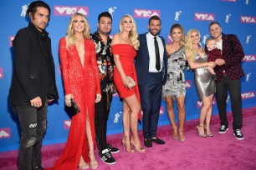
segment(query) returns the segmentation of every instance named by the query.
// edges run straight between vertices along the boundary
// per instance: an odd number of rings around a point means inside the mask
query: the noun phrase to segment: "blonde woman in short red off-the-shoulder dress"
[[[141,111],[140,93],[137,85],[134,58],[139,48],[136,23],[130,15],[125,15],[120,20],[120,33],[115,34],[112,40],[112,52],[115,60],[114,83],[120,98],[123,99],[123,126],[124,136],[122,144],[127,152],[145,152],[141,148],[138,135],[138,116]],[[129,87],[130,76],[135,82],[135,87]],[[130,133],[132,137],[130,138]]]

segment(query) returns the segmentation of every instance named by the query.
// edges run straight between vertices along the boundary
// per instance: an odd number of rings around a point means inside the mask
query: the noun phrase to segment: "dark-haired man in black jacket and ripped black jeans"
[[[13,40],[14,70],[9,101],[21,127],[18,169],[43,169],[41,148],[47,127],[48,102],[58,99],[51,40],[46,28],[49,5],[31,2],[30,23]]]

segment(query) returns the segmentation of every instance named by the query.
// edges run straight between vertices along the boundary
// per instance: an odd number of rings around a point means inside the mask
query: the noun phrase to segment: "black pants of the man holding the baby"
[[[233,113],[233,130],[242,128],[242,97],[241,97],[241,81],[233,80],[224,76],[216,85],[216,102],[218,105],[219,118],[221,125],[228,126],[226,101],[228,91],[231,100],[231,109]]]

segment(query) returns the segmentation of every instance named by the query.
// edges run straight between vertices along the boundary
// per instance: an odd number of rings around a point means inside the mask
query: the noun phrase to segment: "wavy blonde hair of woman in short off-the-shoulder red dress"
[[[138,50],[139,47],[140,47],[140,42],[138,40],[138,32],[137,32],[137,27],[136,27],[136,22],[134,20],[134,18],[131,17],[131,15],[129,14],[125,14],[121,19],[120,19],[120,25],[119,25],[119,28],[120,28],[120,32],[123,32],[123,28],[122,28],[122,22],[123,22],[123,19],[124,18],[131,18],[131,21],[132,21],[132,29],[131,29],[131,32],[130,32],[130,35],[129,35],[129,39],[133,45],[133,47]]]

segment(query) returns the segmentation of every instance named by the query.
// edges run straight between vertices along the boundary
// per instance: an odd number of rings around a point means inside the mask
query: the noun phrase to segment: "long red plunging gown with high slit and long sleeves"
[[[59,58],[65,95],[72,93],[80,111],[72,117],[69,137],[54,170],[76,170],[82,155],[89,162],[89,144],[85,132],[86,115],[90,120],[90,131],[95,146],[95,95],[100,93],[99,70],[95,57],[95,43],[84,39],[84,67],[75,46],[66,48],[65,38],[59,41]]]

